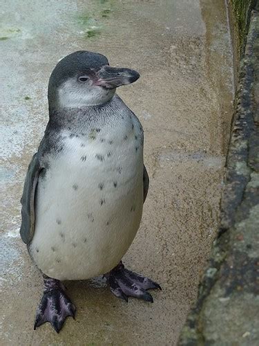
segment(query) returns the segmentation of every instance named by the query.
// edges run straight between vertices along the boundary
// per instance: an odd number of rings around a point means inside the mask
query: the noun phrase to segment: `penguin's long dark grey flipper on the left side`
[[[28,167],[26,179],[21,197],[21,239],[25,244],[29,244],[32,240],[35,228],[35,194],[39,174],[43,167],[39,162],[39,154],[32,156],[32,161]]]

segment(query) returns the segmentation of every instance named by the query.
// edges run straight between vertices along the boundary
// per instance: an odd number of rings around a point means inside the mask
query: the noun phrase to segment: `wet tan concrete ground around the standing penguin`
[[[0,19],[1,345],[175,345],[218,228],[233,98],[224,0],[10,0]],[[76,320],[56,334],[33,331],[41,276],[19,238],[19,199],[48,121],[48,77],[79,49],[142,75],[119,89],[144,127],[151,179],[124,262],[163,290],[126,304],[101,279],[66,282]]]

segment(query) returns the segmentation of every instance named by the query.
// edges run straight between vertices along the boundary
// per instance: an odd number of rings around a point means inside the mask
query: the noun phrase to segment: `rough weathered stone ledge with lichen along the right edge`
[[[259,345],[259,3],[240,64],[220,228],[179,346]]]

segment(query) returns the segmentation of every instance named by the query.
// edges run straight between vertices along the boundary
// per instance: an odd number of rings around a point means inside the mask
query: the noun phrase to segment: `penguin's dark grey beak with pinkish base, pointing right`
[[[140,73],[131,69],[103,66],[97,72],[96,85],[114,89],[121,85],[131,84],[140,78]]]

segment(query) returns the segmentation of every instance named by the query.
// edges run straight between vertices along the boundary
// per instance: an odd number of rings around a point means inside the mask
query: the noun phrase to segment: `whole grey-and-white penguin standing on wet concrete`
[[[140,226],[148,192],[143,129],[116,88],[140,77],[99,53],[60,60],[48,83],[49,121],[21,197],[21,239],[44,279],[34,329],[59,332],[75,305],[62,280],[104,275],[111,292],[153,302],[148,277],[122,257]]]

